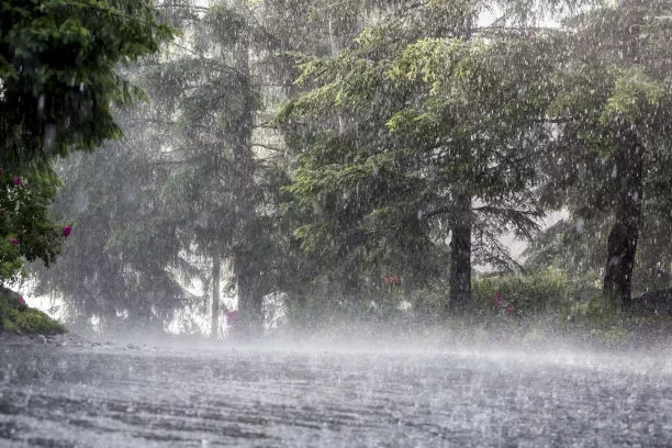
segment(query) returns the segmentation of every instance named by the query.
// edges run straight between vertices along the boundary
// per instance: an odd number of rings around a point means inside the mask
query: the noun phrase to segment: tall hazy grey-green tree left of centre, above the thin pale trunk
[[[278,172],[262,154],[278,149],[264,127],[264,105],[277,102],[287,71],[293,70],[284,52],[305,45],[287,22],[275,22],[276,13],[288,13],[280,3],[213,4],[188,29],[190,49],[147,70],[148,85],[155,86],[152,94],[163,108],[160,120],[178,125],[171,145],[180,155],[170,195],[192,223],[182,228],[182,238],[193,238],[198,250],[212,259],[212,279],[219,278],[222,260],[232,261],[238,307],[255,333],[261,326],[262,296],[272,288],[268,277],[277,272],[269,260],[275,246],[269,232],[276,225],[269,215],[277,209],[265,203],[272,194],[261,186],[275,186]],[[292,20],[305,26],[301,4],[287,8],[295,9]],[[211,287],[214,296],[220,284],[213,281]],[[213,300],[213,336],[219,313]]]

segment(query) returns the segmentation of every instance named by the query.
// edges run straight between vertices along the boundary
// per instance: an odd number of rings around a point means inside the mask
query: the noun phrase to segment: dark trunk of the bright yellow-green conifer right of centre
[[[471,197],[456,198],[450,240],[450,311],[462,314],[471,302]]]

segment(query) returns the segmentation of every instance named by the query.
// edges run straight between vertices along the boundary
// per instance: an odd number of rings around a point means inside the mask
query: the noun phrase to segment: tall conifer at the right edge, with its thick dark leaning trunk
[[[670,3],[624,0],[568,22],[572,52],[551,108],[561,131],[547,197],[567,191],[578,215],[613,215],[604,295],[628,307],[645,201],[669,220]],[[550,160],[549,160],[550,161]],[[648,187],[648,188],[647,188]],[[561,194],[559,197],[562,197]],[[661,208],[662,205],[662,208]]]

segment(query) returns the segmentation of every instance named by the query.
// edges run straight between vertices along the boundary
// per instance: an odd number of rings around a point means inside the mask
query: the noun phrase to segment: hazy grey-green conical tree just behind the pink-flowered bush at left
[[[161,152],[165,127],[147,126],[149,107],[115,115],[125,137],[57,164],[65,181],[54,209],[75,225],[59,262],[31,267],[37,291],[64,298],[68,317],[101,329],[163,329],[197,298],[186,291],[197,270],[182,254],[166,186],[172,168]]]

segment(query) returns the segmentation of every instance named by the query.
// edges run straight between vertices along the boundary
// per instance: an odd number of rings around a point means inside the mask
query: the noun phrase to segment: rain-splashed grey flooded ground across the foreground
[[[664,447],[669,357],[0,346],[2,447]]]

